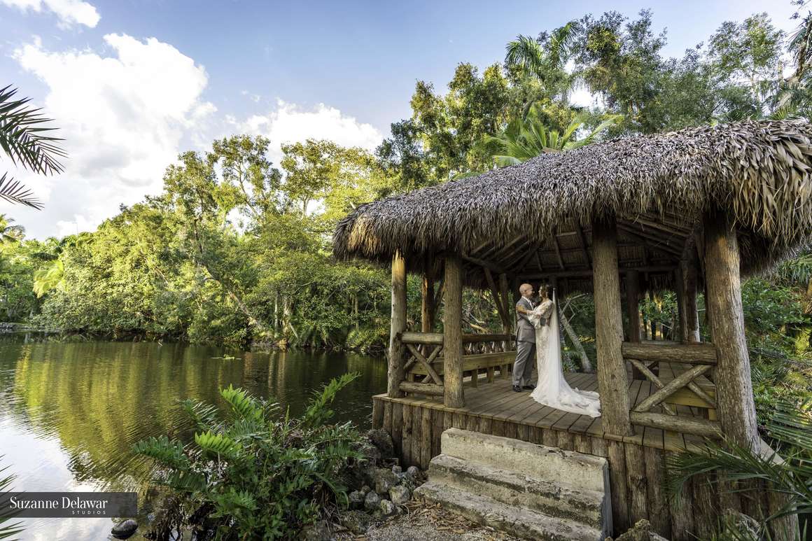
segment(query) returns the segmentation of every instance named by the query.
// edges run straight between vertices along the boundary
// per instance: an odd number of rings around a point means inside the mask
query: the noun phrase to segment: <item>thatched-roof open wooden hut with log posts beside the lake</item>
[[[359,207],[339,223],[333,249],[391,265],[388,388],[374,397],[374,424],[405,463],[424,466],[450,426],[607,457],[615,528],[649,518],[667,537],[702,534],[712,522],[703,513],[723,494],[697,486],[685,513],[654,485],[664,457],[701,438],[762,445],[741,279],[809,242],[810,141],[812,127],[792,121],[630,136]],[[420,329],[406,328],[408,272],[423,276]],[[509,370],[517,286],[542,280],[594,294],[597,376],[581,375],[600,392],[598,420],[523,417],[527,404],[499,412],[486,408],[493,400],[469,400],[495,392],[495,375]],[[461,331],[464,287],[492,292],[501,334]],[[676,340],[642,340],[640,297],[663,289],[677,293]]]

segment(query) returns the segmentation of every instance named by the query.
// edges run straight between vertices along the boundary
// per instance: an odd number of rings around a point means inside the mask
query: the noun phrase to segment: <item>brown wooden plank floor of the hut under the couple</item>
[[[665,381],[671,379],[672,370],[679,373],[681,365],[661,367],[660,375]],[[565,377],[572,387],[586,391],[598,390],[598,379],[595,374],[567,373]],[[485,383],[482,379],[477,387],[465,382],[465,407],[460,409],[446,408],[442,397],[407,396],[405,398],[391,399],[385,394],[374,396],[374,400],[382,402],[395,402],[403,405],[418,406],[421,409],[433,409],[443,412],[458,413],[468,419],[469,426],[487,426],[502,423],[511,426],[519,436],[522,431],[542,429],[543,431],[559,431],[569,435],[589,436],[591,439],[622,441],[628,444],[637,444],[644,447],[659,448],[666,451],[685,451],[696,449],[702,444],[702,438],[685,435],[677,432],[663,431],[647,426],[635,426],[635,435],[619,437],[603,431],[601,418],[590,418],[577,413],[567,413],[559,409],[538,404],[530,397],[530,392],[513,392],[511,382],[507,378],[497,376],[493,383]],[[632,405],[637,405],[656,390],[653,383],[648,380],[631,380],[628,392]],[[633,407],[633,406],[632,406]],[[652,411],[660,411],[659,407]],[[677,406],[677,413],[686,416],[702,417],[702,410],[688,406]],[[472,422],[472,419],[474,420]],[[476,420],[479,422],[477,423]],[[495,433],[496,431],[493,431]],[[508,435],[508,434],[505,434]],[[522,438],[520,439],[528,439]],[[532,439],[532,438],[531,438]]]

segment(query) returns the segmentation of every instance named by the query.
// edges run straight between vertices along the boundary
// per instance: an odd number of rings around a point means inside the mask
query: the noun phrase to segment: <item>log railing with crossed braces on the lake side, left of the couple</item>
[[[463,351],[462,371],[471,376],[471,384],[477,387],[481,370],[486,371],[490,383],[499,368],[501,374],[507,375],[508,366],[515,355],[505,344],[512,344],[515,337],[504,334],[468,334],[462,335]],[[400,382],[400,390],[427,396],[443,396],[443,333],[412,332],[400,334],[400,343],[407,354],[404,374],[406,379]]]

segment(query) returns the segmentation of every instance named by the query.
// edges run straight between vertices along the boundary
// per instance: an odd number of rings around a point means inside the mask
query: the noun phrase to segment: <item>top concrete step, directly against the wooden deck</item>
[[[603,457],[458,428],[443,432],[440,449],[449,457],[566,483],[573,490],[609,493],[609,465]]]

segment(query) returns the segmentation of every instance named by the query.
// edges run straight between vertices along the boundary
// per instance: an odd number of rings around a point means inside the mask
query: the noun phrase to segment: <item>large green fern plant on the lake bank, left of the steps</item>
[[[153,483],[180,517],[174,530],[208,539],[290,539],[322,509],[347,501],[342,479],[349,461],[362,460],[352,423],[328,424],[330,405],[359,374],[345,374],[314,392],[304,415],[241,388],[220,391],[213,405],[184,400],[196,428],[193,442],[166,436],[141,440],[136,453],[156,463]],[[156,535],[157,537],[157,535]]]

